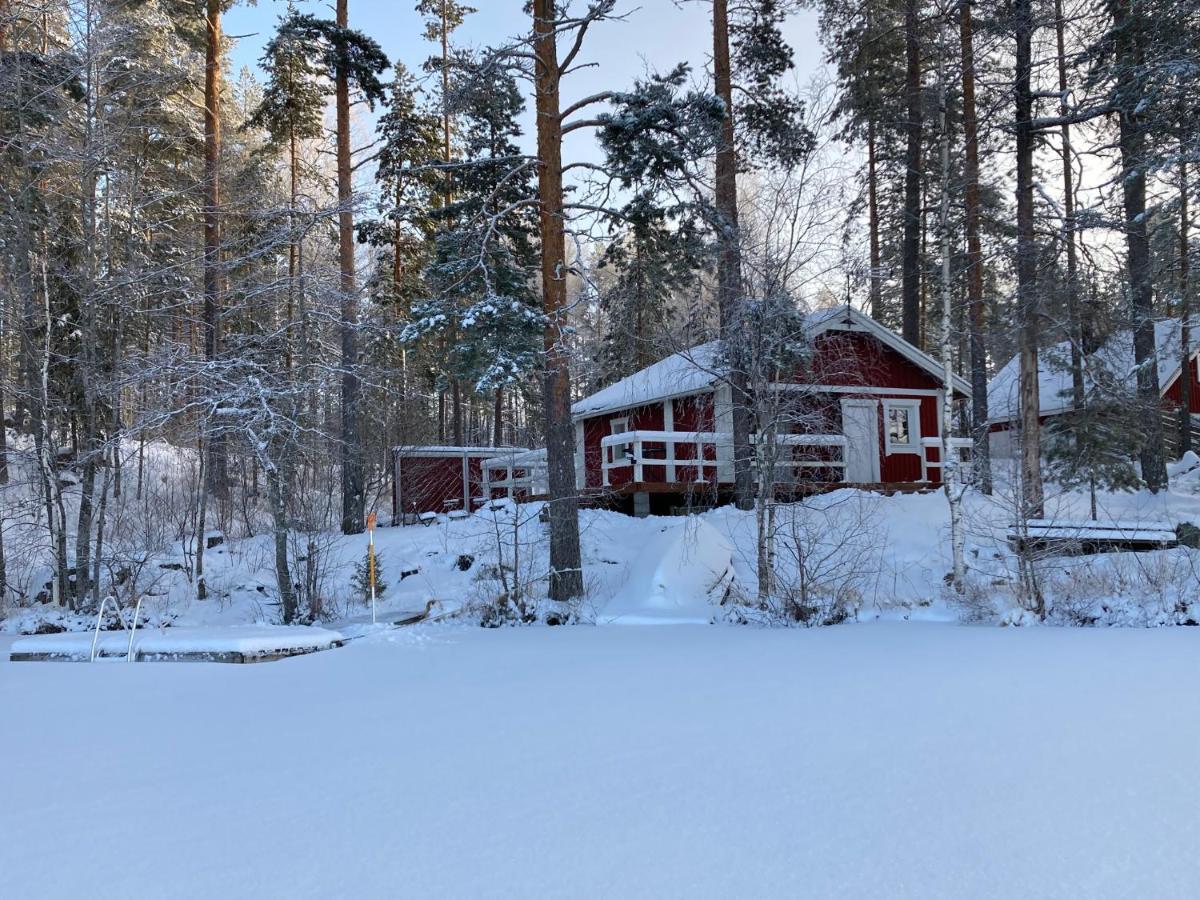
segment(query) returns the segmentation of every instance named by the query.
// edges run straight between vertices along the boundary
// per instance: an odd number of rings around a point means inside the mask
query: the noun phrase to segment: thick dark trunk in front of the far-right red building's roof
[[[1126,257],[1132,300],[1133,356],[1138,370],[1138,406],[1142,427],[1141,478],[1158,492],[1166,485],[1162,401],[1154,346],[1154,288],[1151,274],[1150,230],[1146,224],[1146,120],[1130,84],[1142,65],[1142,13],[1132,0],[1112,0],[1116,25],[1118,82],[1124,83],[1124,108],[1118,112],[1121,188],[1124,200]]]

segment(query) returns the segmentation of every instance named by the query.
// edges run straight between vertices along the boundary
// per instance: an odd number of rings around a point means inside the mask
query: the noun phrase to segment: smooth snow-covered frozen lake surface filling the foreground
[[[1200,886],[1200,629],[388,637],[263,666],[0,662],[0,893]]]

